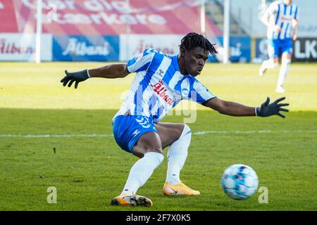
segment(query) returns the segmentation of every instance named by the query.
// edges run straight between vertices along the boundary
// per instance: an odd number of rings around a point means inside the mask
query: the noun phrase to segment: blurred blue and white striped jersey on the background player
[[[298,20],[299,8],[295,4],[287,6],[282,1],[274,1],[268,6],[264,15],[270,18],[268,25],[268,39],[292,38],[292,21]],[[275,32],[274,27],[278,25],[281,32]]]

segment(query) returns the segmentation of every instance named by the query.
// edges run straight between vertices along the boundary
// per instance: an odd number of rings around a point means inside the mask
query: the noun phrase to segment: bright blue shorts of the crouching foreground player
[[[142,115],[119,115],[113,120],[113,136],[118,146],[132,153],[133,146],[142,134],[154,131],[157,134],[153,121]]]

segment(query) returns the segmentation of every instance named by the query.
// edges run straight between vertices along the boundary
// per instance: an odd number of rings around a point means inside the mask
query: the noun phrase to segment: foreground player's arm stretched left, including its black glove
[[[119,78],[126,77],[130,72],[128,72],[126,64],[112,64],[106,65],[102,68],[96,68],[92,70],[81,70],[78,72],[68,72],[65,70],[66,76],[61,79],[63,86],[68,84],[68,87],[72,86],[75,82],[75,89],[80,82],[85,81],[91,77],[104,77],[104,78]]]

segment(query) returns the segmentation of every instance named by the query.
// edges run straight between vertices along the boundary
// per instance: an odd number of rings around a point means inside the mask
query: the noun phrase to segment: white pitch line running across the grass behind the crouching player
[[[205,135],[205,134],[266,134],[266,133],[288,133],[288,134],[300,134],[300,133],[317,133],[317,130],[259,130],[259,131],[197,131],[193,132],[193,135]],[[113,134],[0,134],[0,138],[27,138],[27,139],[49,139],[49,138],[95,138],[95,137],[108,137]]]

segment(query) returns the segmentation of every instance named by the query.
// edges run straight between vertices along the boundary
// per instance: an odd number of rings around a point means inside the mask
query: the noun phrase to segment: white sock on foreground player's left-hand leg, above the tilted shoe
[[[164,155],[156,152],[145,153],[143,158],[137,160],[130,169],[128,180],[121,195],[133,195],[147,182],[154,169],[159,167],[164,159]]]

